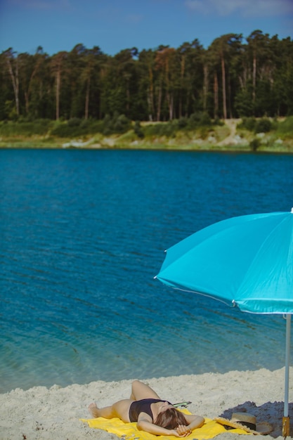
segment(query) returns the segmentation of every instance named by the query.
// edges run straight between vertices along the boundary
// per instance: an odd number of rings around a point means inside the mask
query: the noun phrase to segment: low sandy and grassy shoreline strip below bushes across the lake
[[[197,130],[176,131],[176,134],[147,135],[139,138],[134,129],[123,134],[84,134],[60,138],[47,134],[10,134],[0,136],[0,149],[52,150],[168,150],[214,153],[292,154],[293,138],[272,130],[254,133],[239,129],[241,119],[225,119],[223,126],[209,127],[205,134]],[[142,123],[143,124],[143,123]],[[163,124],[163,123],[162,123]],[[145,123],[144,123],[145,125]],[[70,137],[69,137],[70,136]]]

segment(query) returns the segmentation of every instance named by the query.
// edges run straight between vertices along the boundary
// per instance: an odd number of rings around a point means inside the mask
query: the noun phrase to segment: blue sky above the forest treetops
[[[293,0],[0,0],[0,53],[53,55],[79,43],[115,55],[124,48],[207,48],[230,32],[293,38]]]

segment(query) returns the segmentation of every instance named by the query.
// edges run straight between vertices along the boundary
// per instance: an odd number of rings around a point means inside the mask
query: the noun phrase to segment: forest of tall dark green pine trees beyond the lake
[[[213,119],[293,115],[293,40],[255,30],[178,48],[108,56],[77,44],[48,56],[0,54],[0,120],[170,121],[203,112]]]

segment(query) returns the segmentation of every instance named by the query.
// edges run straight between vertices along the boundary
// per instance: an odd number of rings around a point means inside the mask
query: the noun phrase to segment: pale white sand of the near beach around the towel
[[[293,369],[290,375],[293,377]],[[231,371],[223,375],[206,373],[162,377],[144,382],[150,384],[162,399],[173,403],[192,401],[188,409],[204,417],[230,417],[232,412],[246,409],[256,415],[258,422],[266,420],[273,424],[274,431],[266,436],[269,440],[282,435],[284,376],[285,370],[282,368],[273,372],[262,369]],[[0,394],[0,439],[117,439],[114,434],[89,428],[79,418],[90,418],[87,407],[92,401],[100,406],[107,406],[119,399],[128,398],[130,388],[131,380],[98,381],[65,388],[54,385],[50,389],[15,389]],[[292,400],[292,391],[293,388],[290,387],[289,401]],[[289,414],[292,414],[292,409],[292,404],[289,404]],[[293,427],[291,433],[293,434]],[[230,440],[236,436],[237,434],[226,432],[217,438]],[[256,435],[253,438],[263,439],[264,436]]]

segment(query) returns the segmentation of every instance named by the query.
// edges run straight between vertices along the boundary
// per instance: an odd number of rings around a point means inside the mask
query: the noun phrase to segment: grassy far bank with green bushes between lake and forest
[[[224,145],[228,124],[205,113],[170,122],[131,122],[124,115],[103,120],[36,119],[0,122],[1,148],[176,148],[271,150],[293,153],[293,116],[286,119],[244,118],[235,143]]]

